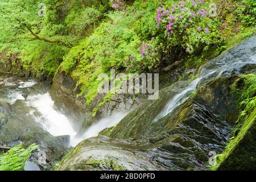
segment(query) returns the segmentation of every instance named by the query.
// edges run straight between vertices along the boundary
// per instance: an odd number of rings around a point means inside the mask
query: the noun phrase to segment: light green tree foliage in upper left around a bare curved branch
[[[46,16],[38,16],[39,3],[46,3]],[[0,53],[6,52],[6,56],[18,53],[24,68],[54,75],[69,47],[30,40],[34,36],[16,18],[40,36],[74,45],[98,24],[109,4],[108,1],[3,0],[0,7]]]

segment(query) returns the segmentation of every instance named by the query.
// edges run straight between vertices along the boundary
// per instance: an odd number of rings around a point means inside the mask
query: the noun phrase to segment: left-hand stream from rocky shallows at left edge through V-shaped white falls
[[[24,115],[30,115],[35,122],[40,123],[43,129],[54,137],[69,135],[72,146],[76,146],[83,139],[96,137],[101,130],[116,125],[127,114],[115,113],[108,118],[101,119],[80,137],[76,137],[78,132],[73,128],[72,122],[54,108],[54,101],[49,93],[42,93],[36,89],[32,89],[31,92],[31,87],[36,84],[34,80],[17,81],[13,77],[5,78],[0,82],[0,85],[3,85],[0,89],[0,101],[10,105],[14,105],[16,102],[19,102],[20,105],[24,103],[27,106],[23,107]]]

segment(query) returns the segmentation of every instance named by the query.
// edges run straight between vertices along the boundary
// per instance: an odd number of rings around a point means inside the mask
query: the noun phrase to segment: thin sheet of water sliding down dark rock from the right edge
[[[249,41],[249,40],[247,40]],[[224,55],[218,56],[215,59],[209,61],[207,64],[203,65],[201,68],[199,77],[192,81],[184,91],[176,94],[170,102],[164,107],[164,109],[154,118],[153,122],[158,121],[158,119],[165,117],[167,114],[171,113],[177,106],[183,104],[185,100],[189,98],[189,94],[196,90],[196,87],[201,82],[209,81],[214,77],[228,76],[232,72],[238,72],[246,64],[256,63],[256,49],[255,42],[256,36],[250,39],[254,47],[250,47],[250,44],[244,45],[243,43],[232,49],[230,52],[225,52]],[[234,56],[233,54],[240,52],[241,56]],[[251,55],[250,57],[245,57],[243,55]]]

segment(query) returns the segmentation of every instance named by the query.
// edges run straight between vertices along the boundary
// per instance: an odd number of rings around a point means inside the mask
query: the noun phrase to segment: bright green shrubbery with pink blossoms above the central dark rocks
[[[82,85],[80,95],[84,94],[88,104],[97,95],[97,76],[102,72],[109,73],[112,68],[117,72],[150,71],[166,59],[181,59],[176,52],[184,55],[189,65],[201,65],[206,59],[220,55],[226,48],[223,46],[226,30],[220,31],[222,16],[212,18],[204,13],[204,17],[200,14],[188,21],[190,11],[208,11],[208,3],[194,7],[186,1],[184,7],[188,11],[174,11],[177,23],[173,35],[163,34],[168,32],[164,22],[156,27],[158,7],[167,10],[177,2],[137,0],[125,11],[110,11],[106,14],[108,20],[64,56],[60,67],[71,72],[78,80],[77,85]],[[179,20],[180,16],[183,16],[182,20]],[[197,30],[199,27],[201,29]]]

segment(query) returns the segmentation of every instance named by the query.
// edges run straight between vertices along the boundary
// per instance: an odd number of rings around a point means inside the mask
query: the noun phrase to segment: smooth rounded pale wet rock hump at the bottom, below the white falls
[[[122,140],[106,137],[91,138],[81,142],[68,155],[72,160],[63,160],[55,170],[159,170],[164,167],[139,154],[136,146]]]

